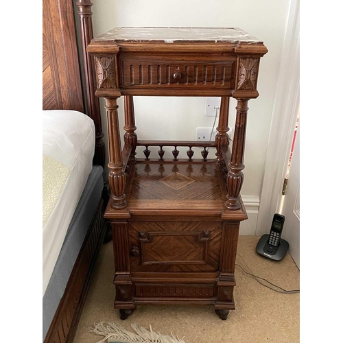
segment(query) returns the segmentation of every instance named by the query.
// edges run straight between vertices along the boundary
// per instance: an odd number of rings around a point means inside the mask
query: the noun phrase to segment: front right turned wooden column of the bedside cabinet
[[[243,185],[244,175],[241,172],[244,169],[244,145],[246,141],[246,117],[248,113],[248,100],[238,99],[237,116],[235,124],[235,137],[233,139],[233,151],[231,161],[228,165],[228,174],[226,177],[228,185],[228,194],[225,206],[230,210],[240,208],[239,192]]]

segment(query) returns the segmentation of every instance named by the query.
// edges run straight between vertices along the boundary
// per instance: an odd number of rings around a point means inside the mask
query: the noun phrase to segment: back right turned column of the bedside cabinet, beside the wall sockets
[[[215,136],[215,145],[217,148],[217,152],[215,155],[217,156],[217,160],[215,163],[220,164],[223,161],[222,150],[221,147],[223,145],[228,145],[228,104],[229,104],[229,97],[222,97],[222,101],[220,102],[220,114],[219,114],[219,122],[217,127],[217,135]]]

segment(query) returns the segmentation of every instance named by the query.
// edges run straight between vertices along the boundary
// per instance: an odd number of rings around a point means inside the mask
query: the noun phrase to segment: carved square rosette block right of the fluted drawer
[[[259,58],[239,58],[237,90],[255,91]]]

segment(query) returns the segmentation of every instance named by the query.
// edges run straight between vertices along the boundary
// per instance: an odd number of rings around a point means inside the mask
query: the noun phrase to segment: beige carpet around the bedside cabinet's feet
[[[259,237],[240,236],[238,254],[250,270],[284,289],[299,289],[299,270],[292,257],[272,262],[255,252]],[[247,270],[237,256],[237,264]],[[248,271],[248,270],[247,270]],[[260,285],[255,278],[236,268],[235,311],[226,321],[220,320],[212,306],[188,307],[139,305],[127,320],[120,320],[113,309],[112,244],[105,244],[99,253],[91,287],[80,318],[75,343],[95,343],[101,336],[86,332],[94,322],[117,322],[131,331],[130,323],[167,335],[171,332],[185,337],[188,343],[259,343],[299,342],[299,294],[280,294]]]

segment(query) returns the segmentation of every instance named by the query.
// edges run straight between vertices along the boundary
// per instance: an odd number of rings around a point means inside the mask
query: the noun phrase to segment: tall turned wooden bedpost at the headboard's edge
[[[77,0],[78,14],[80,18],[80,29],[82,38],[82,57],[84,60],[84,79],[86,85],[86,108],[87,115],[91,117],[95,125],[95,154],[93,164],[105,167],[105,144],[102,138],[102,119],[100,115],[99,99],[95,97],[95,69],[93,56],[88,54],[87,46],[93,39],[92,11],[93,3],[90,0]]]

